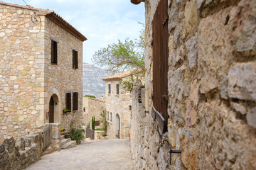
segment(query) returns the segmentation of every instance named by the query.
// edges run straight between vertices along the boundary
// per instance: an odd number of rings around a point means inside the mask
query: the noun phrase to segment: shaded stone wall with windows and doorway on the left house
[[[57,24],[42,16],[46,24],[44,41],[44,64],[45,64],[45,86],[44,111],[49,111],[50,97],[55,96],[55,123],[61,123],[65,129],[70,129],[70,123],[74,122],[76,127],[82,127],[82,41],[68,33]],[[58,64],[50,64],[51,40],[58,40]],[[73,69],[73,49],[78,51],[78,69]],[[65,92],[78,92],[78,111],[63,114],[65,108]],[[71,97],[73,101],[73,95]],[[73,102],[71,102],[73,103]],[[46,114],[44,121],[48,123]]]

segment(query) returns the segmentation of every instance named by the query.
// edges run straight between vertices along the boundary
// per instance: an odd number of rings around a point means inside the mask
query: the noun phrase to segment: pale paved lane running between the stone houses
[[[133,170],[134,166],[129,140],[101,140],[47,154],[27,168],[33,169]]]

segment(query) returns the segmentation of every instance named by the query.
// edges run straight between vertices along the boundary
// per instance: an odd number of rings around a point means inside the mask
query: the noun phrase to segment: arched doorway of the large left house
[[[53,94],[50,97],[50,101],[49,101],[49,123],[60,122],[58,104],[59,104],[58,96],[56,94]]]

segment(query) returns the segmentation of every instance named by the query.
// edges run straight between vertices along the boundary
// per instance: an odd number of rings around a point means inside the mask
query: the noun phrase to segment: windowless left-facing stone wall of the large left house
[[[0,142],[37,132],[43,124],[43,30],[32,15],[0,4]]]

